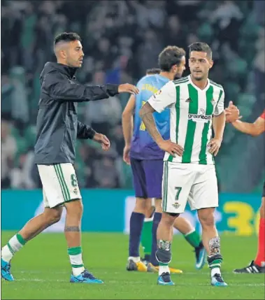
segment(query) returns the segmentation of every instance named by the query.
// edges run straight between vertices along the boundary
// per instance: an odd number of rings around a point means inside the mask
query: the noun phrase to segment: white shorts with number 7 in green
[[[218,206],[214,165],[164,162],[162,210],[184,213],[187,201],[191,210]]]

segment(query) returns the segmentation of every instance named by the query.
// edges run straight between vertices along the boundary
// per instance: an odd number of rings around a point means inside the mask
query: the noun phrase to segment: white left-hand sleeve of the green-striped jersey
[[[162,113],[166,107],[176,103],[176,87],[174,83],[172,81],[166,83],[161,90],[148,99],[148,103],[157,111],[157,113]]]

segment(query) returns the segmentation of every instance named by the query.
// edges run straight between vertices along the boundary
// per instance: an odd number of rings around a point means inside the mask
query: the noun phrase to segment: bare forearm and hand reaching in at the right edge
[[[232,125],[238,131],[243,132],[243,134],[250,134],[251,136],[259,136],[259,134],[262,134],[265,131],[265,119],[263,117],[258,117],[254,123],[236,120],[235,122],[232,122]]]

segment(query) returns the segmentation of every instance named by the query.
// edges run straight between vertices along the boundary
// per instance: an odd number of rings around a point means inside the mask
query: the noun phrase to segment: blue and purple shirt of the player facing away
[[[157,143],[152,139],[148,131],[145,129],[139,111],[148,99],[158,92],[169,78],[159,74],[148,75],[138,81],[137,87],[139,94],[136,95],[136,107],[134,115],[134,136],[131,141],[130,156],[134,159],[163,159],[164,151],[161,150]],[[155,124],[159,133],[165,140],[170,138],[170,110],[166,108],[162,113],[155,112],[153,114]]]

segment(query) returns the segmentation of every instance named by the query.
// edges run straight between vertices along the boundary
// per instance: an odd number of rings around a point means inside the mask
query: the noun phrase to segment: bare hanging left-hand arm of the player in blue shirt
[[[125,106],[122,113],[122,131],[124,136],[125,147],[123,150],[123,160],[127,164],[130,164],[129,151],[131,149],[131,138],[133,135],[134,128],[134,110],[135,110],[135,96],[131,95],[127,106]]]

